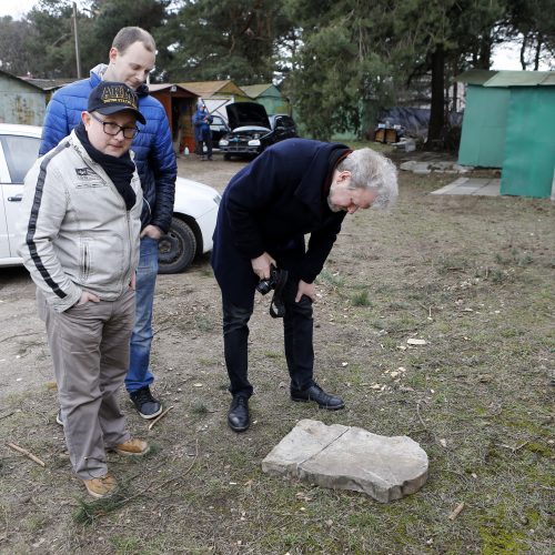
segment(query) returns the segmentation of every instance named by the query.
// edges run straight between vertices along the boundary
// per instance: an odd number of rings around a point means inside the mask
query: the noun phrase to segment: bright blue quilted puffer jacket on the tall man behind
[[[58,90],[47,108],[39,154],[52,150],[81,122],[91,90],[102,80],[105,64],[91,70],[90,78],[67,84]],[[137,90],[139,110],[147,124],[138,123],[141,132],[133,139],[131,150],[141,179],[143,208],[141,226],[152,224],[164,233],[170,229],[178,165],[170,125],[162,104],[151,95],[147,85]]]

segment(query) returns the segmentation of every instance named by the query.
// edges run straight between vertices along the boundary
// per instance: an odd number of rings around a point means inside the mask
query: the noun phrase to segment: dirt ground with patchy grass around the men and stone
[[[181,158],[179,173],[222,191],[243,162],[215,159]],[[290,402],[280,325],[259,295],[253,424],[231,432],[208,256],[160,275],[152,369],[172,408],[149,431],[122,394],[153,450],[140,464],[110,455],[112,504],[89,503],[71,476],[34,286],[2,270],[0,553],[552,553],[555,206],[428,194],[453,179],[403,173],[391,214],[345,220],[315,303],[315,376],[345,398],[337,413]],[[381,505],[266,476],[261,461],[303,417],[413,437],[428,482]]]

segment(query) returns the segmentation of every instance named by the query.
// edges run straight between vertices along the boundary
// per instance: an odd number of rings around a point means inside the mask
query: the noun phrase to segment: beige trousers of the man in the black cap
[[[39,315],[47,324],[63,432],[75,474],[107,473],[105,447],[130,438],[118,403],[129,365],[134,291],[117,301],[88,302],[54,312],[40,291]]]

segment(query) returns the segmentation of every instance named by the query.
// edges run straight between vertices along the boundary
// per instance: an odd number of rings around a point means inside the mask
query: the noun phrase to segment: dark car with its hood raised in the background
[[[224,160],[231,157],[253,158],[265,148],[284,139],[299,137],[296,125],[287,114],[268,115],[255,102],[234,102],[225,107],[231,132],[220,142]]]

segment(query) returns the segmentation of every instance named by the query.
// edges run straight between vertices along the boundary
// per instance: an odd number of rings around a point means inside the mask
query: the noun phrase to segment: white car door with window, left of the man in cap
[[[23,181],[39,155],[40,139],[16,134],[0,135],[0,188],[3,218],[0,223],[1,258],[17,258],[16,225],[20,218]]]

